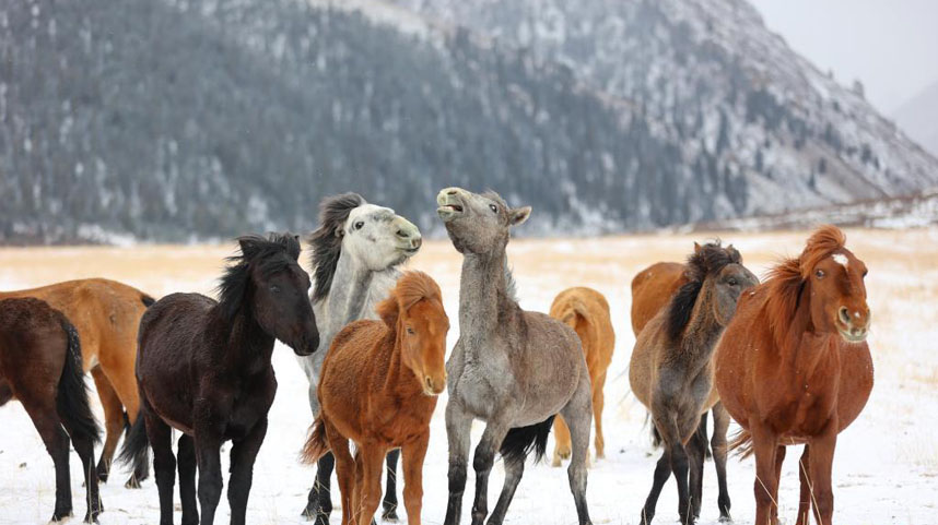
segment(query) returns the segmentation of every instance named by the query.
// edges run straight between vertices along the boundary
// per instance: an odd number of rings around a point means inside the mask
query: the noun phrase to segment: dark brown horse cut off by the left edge
[[[47,302],[0,300],[0,406],[19,399],[52,457],[54,522],[72,514],[69,438],[82,462],[87,498],[84,521],[97,522],[104,510],[94,470],[94,445],[101,442],[101,429],[87,401],[80,341],[71,322]]]

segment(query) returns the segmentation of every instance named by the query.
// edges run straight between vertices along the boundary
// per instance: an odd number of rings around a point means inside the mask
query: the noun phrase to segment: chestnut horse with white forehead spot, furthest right
[[[872,390],[867,269],[845,242],[834,226],[814,231],[800,256],[743,294],[716,350],[719,396],[743,428],[734,445],[755,453],[757,525],[777,523],[785,446],[799,443],[797,523],[813,505],[818,523],[831,524],[837,433]]]

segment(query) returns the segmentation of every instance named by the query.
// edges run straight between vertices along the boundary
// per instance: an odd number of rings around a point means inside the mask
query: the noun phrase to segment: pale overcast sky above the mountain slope
[[[938,0],[750,1],[821,71],[859,79],[886,115],[938,82]]]

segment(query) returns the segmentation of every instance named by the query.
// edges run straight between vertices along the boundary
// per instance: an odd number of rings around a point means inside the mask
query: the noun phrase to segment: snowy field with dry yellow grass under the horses
[[[764,275],[773,260],[800,252],[807,232],[726,234],[747,265]],[[925,525],[938,522],[938,229],[908,231],[848,230],[847,246],[869,266],[867,286],[873,312],[869,344],[876,362],[876,386],[864,414],[843,432],[834,461],[835,518],[839,523]],[[508,246],[521,306],[547,311],[562,289],[591,286],[612,308],[615,354],[606,385],[607,458],[589,470],[587,497],[596,524],[635,524],[650,487],[657,454],[649,446],[644,408],[630,394],[626,367],[634,344],[629,322],[630,282],[644,266],[682,260],[693,240],[704,235],[615,237],[585,240],[516,240]],[[105,276],[124,281],[155,296],[178,290],[210,293],[231,247],[31,248],[0,249],[0,289],[22,288],[77,277]],[[306,254],[302,255],[306,261]],[[448,241],[427,242],[409,267],[436,278],[444,290],[453,330],[458,336],[457,305],[460,258]],[[270,430],[255,466],[248,521],[256,524],[305,523],[314,468],[301,465],[297,453],[310,423],[306,378],[293,353],[278,345],[274,368],[280,383],[270,413]],[[93,396],[96,397],[96,396]],[[99,407],[96,405],[98,417]],[[423,522],[442,523],[446,503],[446,435],[441,399],[432,423],[424,464]],[[22,406],[0,408],[0,523],[45,523],[55,500],[52,462]],[[482,425],[473,429],[473,444]],[[732,428],[730,429],[732,432]],[[550,451],[553,443],[551,442]],[[798,502],[797,458],[789,451],[779,492],[783,523],[794,523]],[[223,454],[223,463],[226,463]],[[78,522],[84,514],[77,454],[71,456],[72,491]],[[227,467],[223,465],[226,473]],[[159,520],[152,478],[140,490],[122,486],[127,474],[114,473],[102,486],[102,524],[143,524]],[[490,487],[494,506],[501,489],[496,463]],[[730,457],[728,479],[731,514],[751,524],[754,514],[751,460]],[[225,480],[227,474],[225,474]],[[462,523],[469,523],[474,477],[469,476]],[[336,484],[333,488],[337,489]],[[705,466],[704,505],[700,523],[717,523],[716,480]],[[177,497],[176,509],[178,506]],[[338,497],[333,496],[333,501]],[[401,509],[402,511],[402,509]],[[176,513],[176,523],[180,520]],[[332,513],[332,523],[341,513]],[[401,517],[403,513],[401,512]],[[656,523],[677,522],[677,491],[668,481],[658,503]],[[227,523],[223,496],[218,523]],[[528,466],[506,523],[572,525],[573,498],[564,469],[549,464]]]

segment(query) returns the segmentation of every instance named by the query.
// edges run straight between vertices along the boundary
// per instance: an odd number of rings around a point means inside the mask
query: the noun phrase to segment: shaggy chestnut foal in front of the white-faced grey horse
[[[446,385],[449,319],[439,286],[423,272],[406,272],[376,310],[380,321],[353,322],[332,341],[318,387],[323,408],[303,455],[313,463],[332,450],[342,525],[370,524],[382,497],[382,461],[400,448],[407,520],[420,525],[423,457]]]

